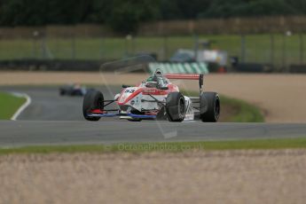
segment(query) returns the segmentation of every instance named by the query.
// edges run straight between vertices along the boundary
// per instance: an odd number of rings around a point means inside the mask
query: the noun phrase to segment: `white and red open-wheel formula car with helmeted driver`
[[[184,96],[169,79],[198,80],[200,97]],[[83,99],[82,112],[86,120],[98,121],[101,117],[120,117],[129,121],[168,120],[183,122],[201,120],[217,122],[220,115],[220,98],[216,92],[204,92],[203,75],[167,74],[160,69],[136,87],[122,85],[122,92],[112,100],[105,100],[98,90],[90,90]],[[106,109],[116,103],[117,109]]]

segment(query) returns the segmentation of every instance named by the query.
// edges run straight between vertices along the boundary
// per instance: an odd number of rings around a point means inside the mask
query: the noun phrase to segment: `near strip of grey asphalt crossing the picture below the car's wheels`
[[[0,146],[306,137],[304,124],[0,122]]]

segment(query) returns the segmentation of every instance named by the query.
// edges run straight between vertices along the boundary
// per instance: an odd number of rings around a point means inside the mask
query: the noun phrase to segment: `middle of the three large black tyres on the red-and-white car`
[[[180,92],[168,94],[166,113],[169,122],[183,122],[185,115],[184,96]]]

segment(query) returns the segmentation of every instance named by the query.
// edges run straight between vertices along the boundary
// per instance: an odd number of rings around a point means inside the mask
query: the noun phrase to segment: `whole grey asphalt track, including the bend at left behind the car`
[[[0,90],[23,92],[32,98],[32,104],[20,114],[19,121],[0,122],[2,147],[306,137],[306,124],[127,122],[116,119],[86,122],[82,118],[82,98],[59,97],[57,88],[2,87]]]

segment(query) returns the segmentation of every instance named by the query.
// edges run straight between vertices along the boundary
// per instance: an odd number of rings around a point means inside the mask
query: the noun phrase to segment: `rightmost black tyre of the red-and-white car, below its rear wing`
[[[217,122],[220,110],[220,98],[216,92],[204,92],[200,95],[200,119],[202,122]]]

